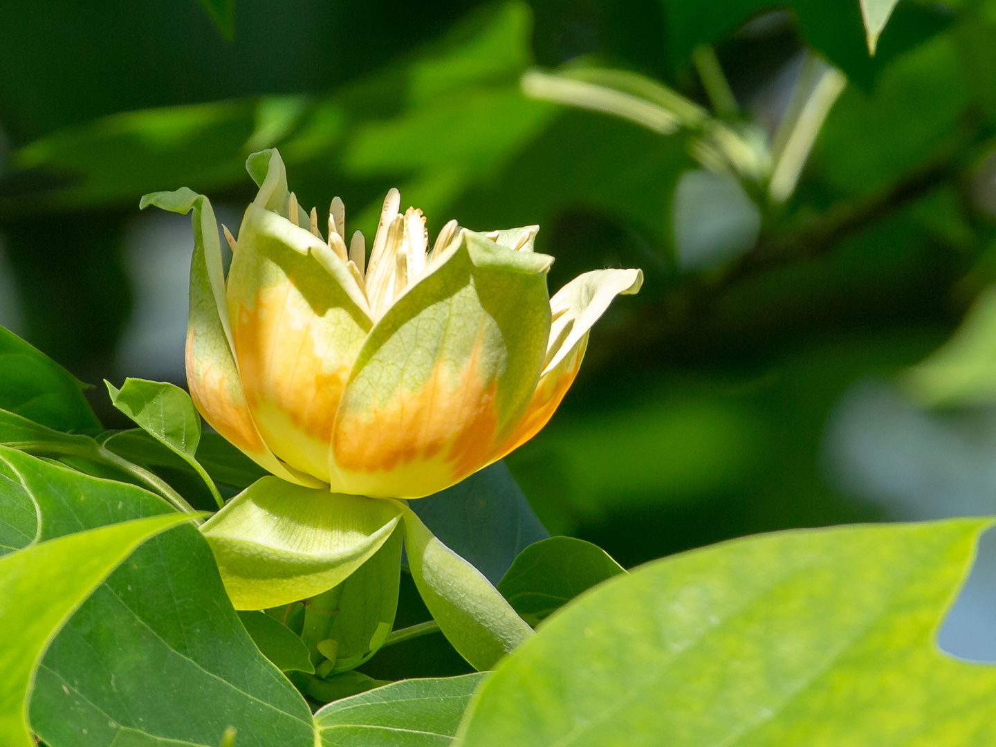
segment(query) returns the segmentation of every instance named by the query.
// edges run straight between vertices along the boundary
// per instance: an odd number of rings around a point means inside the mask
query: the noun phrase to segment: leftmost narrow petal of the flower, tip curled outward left
[[[184,187],[174,192],[147,194],[141,198],[141,207],[147,205],[178,213],[193,210],[186,372],[190,396],[198,411],[215,430],[263,468],[291,482],[319,484],[289,469],[270,451],[249,412],[232,354],[221,245],[210,201]]]

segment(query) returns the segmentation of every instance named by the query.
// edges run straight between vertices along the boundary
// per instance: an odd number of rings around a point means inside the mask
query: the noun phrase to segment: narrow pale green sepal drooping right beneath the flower
[[[433,537],[410,509],[404,512],[404,550],[425,606],[478,671],[492,668],[532,634],[480,571]]]

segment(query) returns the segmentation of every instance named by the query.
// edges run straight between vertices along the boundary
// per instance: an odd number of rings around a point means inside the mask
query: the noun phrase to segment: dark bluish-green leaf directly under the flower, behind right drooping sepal
[[[432,534],[492,584],[525,547],[550,536],[502,461],[408,505]]]

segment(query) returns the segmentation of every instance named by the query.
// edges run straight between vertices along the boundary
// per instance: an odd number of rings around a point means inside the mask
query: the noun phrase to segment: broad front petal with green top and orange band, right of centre
[[[333,490],[417,498],[484,466],[522,417],[552,258],[462,231],[376,323],[333,429]]]

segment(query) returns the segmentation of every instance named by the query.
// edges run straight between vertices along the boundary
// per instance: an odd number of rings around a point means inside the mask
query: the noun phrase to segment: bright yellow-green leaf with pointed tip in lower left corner
[[[114,524],[42,542],[0,558],[0,734],[30,747],[27,696],[38,659],[94,588],[142,541],[179,514]]]

